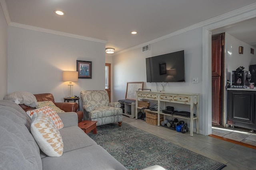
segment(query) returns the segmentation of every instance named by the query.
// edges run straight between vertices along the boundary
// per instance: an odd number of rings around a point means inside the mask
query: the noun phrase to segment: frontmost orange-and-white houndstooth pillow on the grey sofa
[[[42,112],[34,113],[31,119],[30,129],[39,148],[46,155],[56,157],[62,155],[62,137],[50,117]]]

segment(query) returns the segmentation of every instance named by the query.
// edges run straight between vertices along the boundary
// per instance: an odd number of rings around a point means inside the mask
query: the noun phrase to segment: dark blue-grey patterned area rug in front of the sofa
[[[88,134],[129,170],[160,165],[168,170],[220,170],[226,165],[122,122]]]

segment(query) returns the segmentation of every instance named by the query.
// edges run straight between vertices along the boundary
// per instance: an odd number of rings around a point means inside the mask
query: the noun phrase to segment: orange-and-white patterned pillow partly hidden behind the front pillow
[[[54,111],[50,106],[44,106],[39,109],[34,109],[34,110],[28,110],[26,113],[32,119],[32,116],[34,113],[39,113],[42,112],[48,117],[52,119],[54,124],[56,125],[57,129],[62,129],[63,128],[63,123],[59,117],[59,115]]]

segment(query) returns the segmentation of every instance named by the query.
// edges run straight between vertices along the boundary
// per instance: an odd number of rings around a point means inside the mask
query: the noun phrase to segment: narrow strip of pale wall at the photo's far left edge
[[[7,23],[0,5],[0,100],[7,94]]]

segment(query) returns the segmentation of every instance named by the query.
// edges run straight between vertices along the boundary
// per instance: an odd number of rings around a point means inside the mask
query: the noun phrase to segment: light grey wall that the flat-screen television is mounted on
[[[150,51],[143,53],[139,48],[114,56],[114,101],[125,98],[127,82],[144,82],[144,88],[156,91],[155,83],[146,82],[146,58],[180,50],[184,50],[185,55],[186,82],[169,82],[165,91],[200,93],[202,99],[202,28],[198,28],[150,44]],[[198,84],[192,84],[193,77],[198,77]],[[158,87],[161,87],[161,83],[158,83]],[[189,107],[181,104],[174,107],[177,110],[189,111]],[[202,102],[200,102],[200,115],[202,117]],[[202,129],[202,119],[200,119],[200,129]]]

